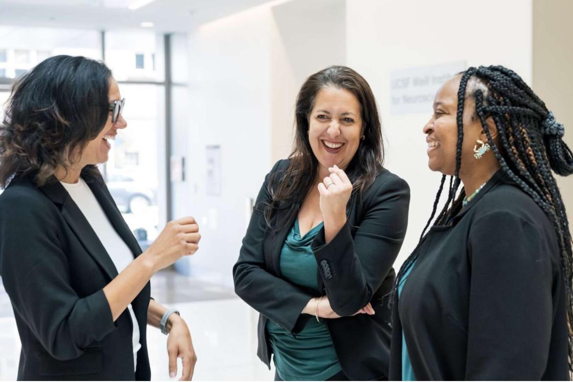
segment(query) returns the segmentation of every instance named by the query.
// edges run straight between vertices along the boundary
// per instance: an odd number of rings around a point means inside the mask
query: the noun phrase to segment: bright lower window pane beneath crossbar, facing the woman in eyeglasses
[[[164,86],[119,84],[127,128],[117,132],[105,165],[109,192],[143,249],[157,237],[159,144],[164,136]]]

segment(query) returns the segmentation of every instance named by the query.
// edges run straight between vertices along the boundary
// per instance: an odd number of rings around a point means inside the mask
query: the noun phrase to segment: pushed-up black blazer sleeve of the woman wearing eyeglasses
[[[116,328],[103,290],[80,298],[45,202],[6,196],[0,203],[0,274],[15,313],[58,360],[80,356]]]

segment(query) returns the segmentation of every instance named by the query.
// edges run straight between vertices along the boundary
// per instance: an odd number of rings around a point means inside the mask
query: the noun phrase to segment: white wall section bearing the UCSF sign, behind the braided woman
[[[422,127],[431,115],[390,113],[392,70],[466,61],[501,64],[531,83],[531,0],[347,0],[347,63],[372,86],[387,139],[386,167],[411,189],[409,225],[395,267],[430,216],[440,174],[427,168]],[[493,11],[494,10],[494,11]]]

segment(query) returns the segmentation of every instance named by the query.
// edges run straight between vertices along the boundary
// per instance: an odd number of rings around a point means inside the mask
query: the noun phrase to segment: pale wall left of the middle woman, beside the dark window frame
[[[202,239],[197,255],[179,269],[232,285],[248,200],[256,198],[272,164],[288,156],[300,85],[346,60],[345,5],[271,2],[190,33],[189,200],[178,192],[174,217],[194,215]],[[221,196],[209,196],[205,146],[217,144],[223,188]]]

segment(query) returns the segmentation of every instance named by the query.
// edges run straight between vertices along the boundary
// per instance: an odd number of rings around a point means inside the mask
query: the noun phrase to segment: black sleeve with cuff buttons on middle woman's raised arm
[[[352,239],[348,223],[325,244],[324,228],[312,243],[332,309],[351,316],[364,308],[386,278],[406,235],[410,188],[397,176],[375,192]]]

